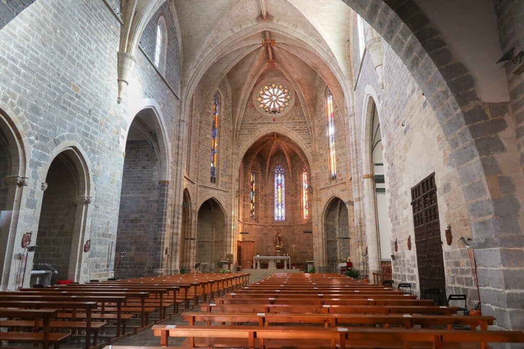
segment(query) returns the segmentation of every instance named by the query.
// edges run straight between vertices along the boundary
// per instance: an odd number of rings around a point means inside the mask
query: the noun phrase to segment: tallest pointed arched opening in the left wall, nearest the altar
[[[127,134],[115,246],[115,277],[121,279],[164,271],[169,184],[158,120],[154,109],[140,110]]]

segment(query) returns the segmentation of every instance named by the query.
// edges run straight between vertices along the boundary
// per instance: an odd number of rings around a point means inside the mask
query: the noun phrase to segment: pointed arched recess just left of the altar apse
[[[196,262],[202,262],[202,272],[211,272],[225,260],[225,213],[218,202],[209,199],[200,206],[197,219]]]

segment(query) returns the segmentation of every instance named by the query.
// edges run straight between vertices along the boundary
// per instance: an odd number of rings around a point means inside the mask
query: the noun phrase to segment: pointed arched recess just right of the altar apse
[[[340,198],[333,198],[324,214],[326,261],[328,268],[338,272],[337,265],[350,256],[350,229],[347,206]]]

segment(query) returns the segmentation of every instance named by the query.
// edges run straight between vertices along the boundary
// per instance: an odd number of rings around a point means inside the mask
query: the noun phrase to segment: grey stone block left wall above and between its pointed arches
[[[40,0],[0,31],[0,108],[16,110],[10,116],[24,125],[19,131],[29,157],[13,256],[21,252],[23,232],[33,231],[37,238],[40,187],[46,181],[42,168],[60,149],[74,147],[88,166],[86,194],[92,197],[79,242],[90,239],[92,247],[82,252],[77,281],[112,276],[122,155],[127,129],[140,108],[154,106],[165,126],[168,151],[176,157],[172,138],[178,130],[173,120],[178,120],[179,101],[141,51],[124,102],[116,104],[120,27],[102,1]],[[166,175],[175,171],[170,162]],[[162,208],[162,236],[174,228],[167,210],[171,206]],[[17,266],[13,258],[2,287],[15,287]]]

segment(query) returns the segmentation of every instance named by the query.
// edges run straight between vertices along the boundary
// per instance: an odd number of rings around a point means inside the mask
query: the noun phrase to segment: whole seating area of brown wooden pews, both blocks
[[[1,292],[0,339],[43,348],[488,348],[495,318],[338,274],[186,274]],[[15,307],[16,306],[16,307]],[[181,311],[183,310],[183,311]],[[179,312],[181,311],[181,312]],[[106,346],[107,344],[107,346]]]

